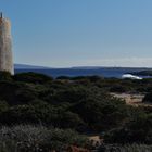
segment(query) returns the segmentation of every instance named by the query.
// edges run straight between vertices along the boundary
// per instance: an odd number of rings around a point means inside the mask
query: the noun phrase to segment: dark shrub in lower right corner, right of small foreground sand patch
[[[137,115],[124,126],[105,134],[106,143],[145,143],[152,144],[152,114]]]

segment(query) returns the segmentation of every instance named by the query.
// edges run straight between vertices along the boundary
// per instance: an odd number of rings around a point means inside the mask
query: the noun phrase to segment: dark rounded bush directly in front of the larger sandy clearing
[[[127,117],[127,106],[124,101],[104,96],[102,94],[100,99],[87,98],[71,107],[89,128],[96,131],[116,127]]]

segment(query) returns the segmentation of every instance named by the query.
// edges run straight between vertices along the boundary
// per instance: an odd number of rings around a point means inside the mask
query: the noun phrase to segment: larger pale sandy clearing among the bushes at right
[[[152,106],[151,103],[142,103],[144,94],[131,94],[131,93],[112,93],[114,97],[121,98],[126,101],[127,104],[134,106]]]

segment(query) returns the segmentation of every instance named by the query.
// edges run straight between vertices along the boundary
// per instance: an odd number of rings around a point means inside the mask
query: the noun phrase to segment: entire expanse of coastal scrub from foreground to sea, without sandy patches
[[[151,103],[152,79],[0,73],[0,151],[151,151],[152,107],[112,93],[142,93]]]

